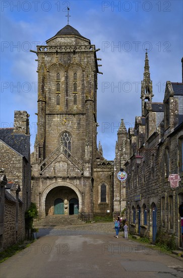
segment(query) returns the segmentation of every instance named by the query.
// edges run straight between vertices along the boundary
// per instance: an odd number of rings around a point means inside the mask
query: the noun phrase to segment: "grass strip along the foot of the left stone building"
[[[8,258],[12,257],[13,255],[19,253],[21,250],[30,246],[32,242],[32,240],[19,242],[0,252],[0,263],[4,262]]]

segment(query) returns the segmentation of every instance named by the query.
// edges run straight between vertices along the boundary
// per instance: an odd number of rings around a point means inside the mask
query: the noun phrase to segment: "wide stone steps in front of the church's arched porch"
[[[37,228],[53,227],[62,225],[77,225],[85,223],[78,218],[78,215],[48,215],[44,218],[34,220]]]

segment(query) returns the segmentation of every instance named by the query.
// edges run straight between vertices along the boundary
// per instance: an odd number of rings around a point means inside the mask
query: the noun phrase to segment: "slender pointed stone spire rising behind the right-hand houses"
[[[143,81],[141,81],[142,116],[144,116],[145,100],[148,100],[149,102],[151,102],[153,96],[154,95],[153,95],[153,91],[152,91],[152,80],[150,78],[150,72],[149,72],[149,59],[148,59],[147,49],[146,49],[144,79],[143,79]]]

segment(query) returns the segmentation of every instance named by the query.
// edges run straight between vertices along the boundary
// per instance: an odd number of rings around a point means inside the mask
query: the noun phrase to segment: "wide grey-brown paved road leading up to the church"
[[[182,278],[182,260],[113,235],[113,223],[40,229],[37,241],[1,264],[0,276]]]

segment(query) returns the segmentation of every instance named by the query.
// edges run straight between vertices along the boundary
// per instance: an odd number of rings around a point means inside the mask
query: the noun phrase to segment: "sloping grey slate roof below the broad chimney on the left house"
[[[0,138],[30,161],[30,135],[14,133],[13,128],[0,128]]]

